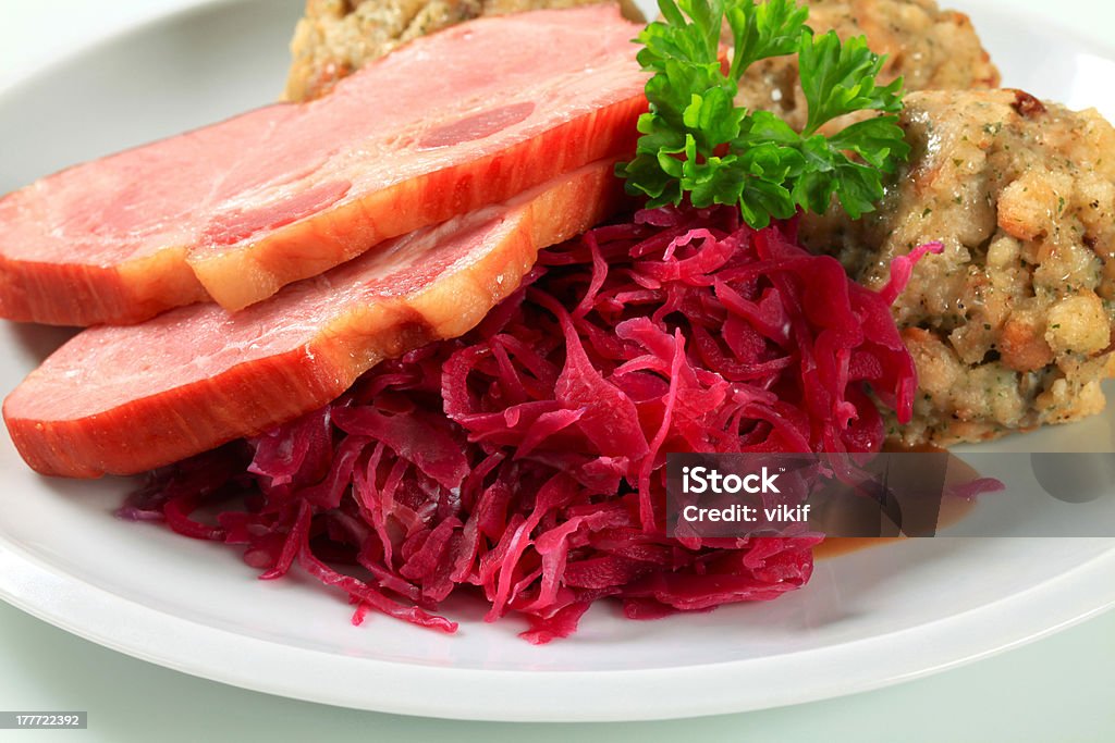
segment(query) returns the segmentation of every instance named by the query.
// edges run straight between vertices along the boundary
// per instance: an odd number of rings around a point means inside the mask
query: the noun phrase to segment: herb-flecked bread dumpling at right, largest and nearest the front
[[[940,241],[894,315],[918,364],[903,442],[995,438],[1101,411],[1115,323],[1115,129],[1018,90],[906,98],[908,166],[876,213],[803,239],[869,286]]]

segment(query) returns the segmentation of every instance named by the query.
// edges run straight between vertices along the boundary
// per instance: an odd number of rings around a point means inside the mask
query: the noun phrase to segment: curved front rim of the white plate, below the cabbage
[[[2,538],[0,599],[140,661],[307,702],[472,721],[671,720],[866,692],[959,667],[1067,629],[1115,608],[1115,584],[1111,581],[1115,539],[1101,541],[1108,541],[1109,547],[1066,573],[948,617],[808,651],[665,668],[508,671],[345,657],[241,635],[145,606],[84,583]],[[1106,587],[1106,592],[1094,590],[1096,587]],[[128,627],[125,637],[119,632],[122,617]],[[943,645],[937,642],[946,638]],[[873,659],[870,666],[862,663],[864,654]],[[234,665],[229,664],[230,657],[236,658]],[[282,675],[282,669],[291,666],[300,671],[293,681]],[[840,667],[842,673],[815,673],[826,666]],[[369,678],[391,683],[367,684]],[[754,684],[757,678],[762,684]],[[524,695],[527,682],[531,694]],[[686,688],[688,693],[661,694],[668,688]],[[741,688],[747,690],[746,696],[733,693]],[[514,703],[505,703],[507,698]],[[432,705],[429,700],[436,703]]]

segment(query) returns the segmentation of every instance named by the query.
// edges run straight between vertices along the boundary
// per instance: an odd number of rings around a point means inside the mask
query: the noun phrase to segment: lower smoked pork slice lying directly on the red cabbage
[[[389,241],[237,313],[196,304],[86,330],[8,395],[12,441],[46,475],[127,475],[319,408],[380,360],[479,322],[539,248],[614,208],[613,165]]]

